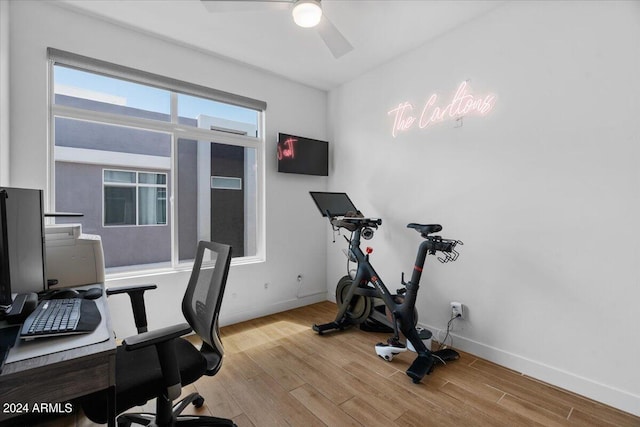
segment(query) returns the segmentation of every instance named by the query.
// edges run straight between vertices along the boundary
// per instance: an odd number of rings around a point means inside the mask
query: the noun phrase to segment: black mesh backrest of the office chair
[[[208,264],[212,264],[213,268],[209,268]],[[203,341],[201,352],[207,357],[207,368],[211,371],[209,375],[219,369],[224,354],[218,330],[218,315],[230,264],[231,246],[199,242],[191,278],[182,300],[185,319]]]

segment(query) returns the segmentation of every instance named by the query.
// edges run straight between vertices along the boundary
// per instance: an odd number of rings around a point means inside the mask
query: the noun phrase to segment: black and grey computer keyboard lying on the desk
[[[102,316],[92,300],[81,298],[44,300],[22,325],[24,340],[93,332]]]

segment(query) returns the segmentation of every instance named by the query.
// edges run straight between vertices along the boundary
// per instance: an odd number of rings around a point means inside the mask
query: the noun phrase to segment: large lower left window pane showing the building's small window
[[[81,223],[83,232],[101,236],[108,273],[170,267],[170,227],[137,225],[135,199],[137,186],[162,186],[152,224],[170,223],[171,135],[60,117],[54,123],[55,210],[84,215],[56,222]],[[160,184],[138,183],[138,175]],[[118,191],[129,192],[128,199],[119,195],[120,207],[108,201]]]

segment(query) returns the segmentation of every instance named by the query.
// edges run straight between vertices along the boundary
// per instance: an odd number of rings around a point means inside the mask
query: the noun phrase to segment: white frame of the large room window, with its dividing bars
[[[96,60],[93,58],[76,55],[69,52],[60,51],[57,49],[49,48],[49,150],[48,150],[48,204],[49,206],[55,206],[55,162],[56,162],[56,147],[55,147],[55,119],[67,118],[74,120],[85,120],[95,123],[132,127],[143,130],[165,132],[171,135],[171,174],[170,174],[170,188],[174,189],[169,197],[168,209],[170,215],[168,215],[167,225],[172,228],[171,233],[171,268],[170,270],[186,270],[190,269],[191,263],[181,262],[179,260],[178,253],[178,204],[177,197],[179,195],[175,191],[178,188],[178,174],[173,173],[177,170],[178,159],[175,153],[177,153],[177,144],[179,139],[191,139],[197,141],[208,140],[215,143],[235,145],[245,148],[254,148],[256,152],[256,254],[245,257],[235,257],[232,259],[232,265],[252,264],[264,262],[266,260],[266,237],[265,237],[265,112],[267,104],[263,101],[258,101],[243,96],[230,94],[215,89],[186,83],[171,78],[159,76],[156,74],[131,69],[128,67],[112,64]],[[85,110],[66,105],[55,104],[54,93],[54,66],[61,65],[71,68],[77,68],[82,71],[90,73],[104,74],[109,77],[119,78],[123,80],[129,80],[140,84],[160,87],[162,89],[170,90],[171,93],[171,120],[169,122],[162,122],[157,120],[151,120],[146,118],[124,116],[112,113],[104,113],[92,110]],[[204,129],[193,128],[178,123],[177,114],[177,100],[178,93],[186,93],[212,101],[228,103],[231,105],[241,106],[244,108],[253,109],[257,113],[257,136],[248,136],[237,133],[225,132],[217,129]],[[103,178],[104,180],[104,174]],[[169,185],[169,183],[168,183]],[[104,191],[104,182],[103,182]],[[104,195],[103,195],[104,203]],[[104,221],[104,213],[103,213]],[[137,219],[136,219],[137,221]],[[110,226],[111,227],[111,226]],[[147,271],[148,269],[141,266],[141,270]],[[166,270],[166,269],[161,269]],[[107,274],[108,278],[128,277],[136,274],[133,269],[126,273],[110,273]]]

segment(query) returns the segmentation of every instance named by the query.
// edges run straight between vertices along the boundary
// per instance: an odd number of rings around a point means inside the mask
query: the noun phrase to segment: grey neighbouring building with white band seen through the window
[[[161,113],[61,94],[56,104],[169,120]],[[180,123],[256,132],[255,125],[207,116],[180,118]],[[255,157],[255,150],[178,140],[177,197],[170,134],[61,117],[54,125],[55,210],[84,215],[56,222],[81,223],[85,233],[100,235],[107,268],[170,264],[172,200],[177,203],[180,260],[193,259],[201,239],[231,244],[234,257],[255,254],[255,232],[245,232],[255,227],[257,208],[248,202],[255,200],[255,171],[245,159]]]

